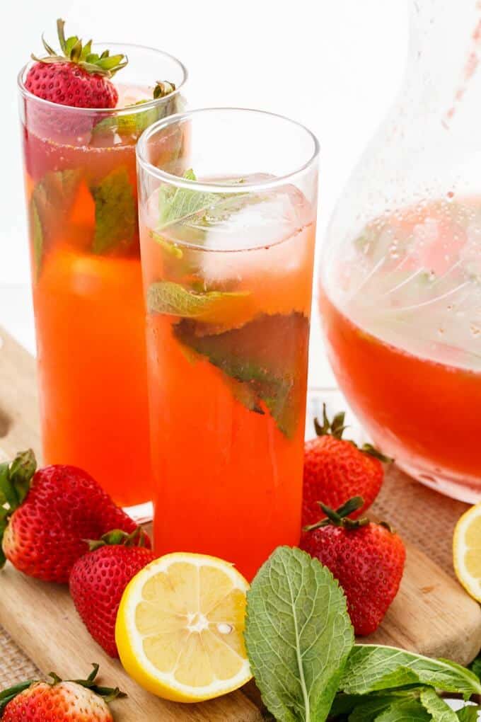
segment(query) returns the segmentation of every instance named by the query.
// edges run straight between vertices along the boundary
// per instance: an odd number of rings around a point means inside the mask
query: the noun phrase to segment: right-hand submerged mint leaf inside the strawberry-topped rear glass
[[[133,241],[137,230],[136,201],[126,168],[117,168],[92,188],[95,233],[92,251],[105,253]]]

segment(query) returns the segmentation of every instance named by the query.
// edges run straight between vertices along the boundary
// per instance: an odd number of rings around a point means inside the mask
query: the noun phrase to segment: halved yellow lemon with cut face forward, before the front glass
[[[216,557],[178,553],[151,562],[128,584],[118,610],[125,671],[176,702],[237,690],[252,677],[243,637],[248,588]]]

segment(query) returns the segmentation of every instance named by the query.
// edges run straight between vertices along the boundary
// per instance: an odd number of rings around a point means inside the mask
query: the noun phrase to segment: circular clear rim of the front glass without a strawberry
[[[179,175],[167,173],[167,171],[162,170],[161,168],[157,168],[156,165],[152,165],[152,163],[147,160],[147,143],[149,142],[151,136],[156,134],[157,131],[162,131],[169,126],[174,125],[175,123],[182,123],[188,118],[198,116],[202,113],[225,112],[254,113],[255,115],[259,116],[268,116],[277,120],[286,121],[290,125],[296,126],[301,132],[305,133],[307,136],[310,137],[310,139],[312,139],[313,151],[311,157],[309,157],[309,159],[306,160],[306,162],[304,162],[302,165],[299,165],[299,167],[295,170],[291,170],[290,173],[278,175],[275,178],[269,178],[265,181],[255,181],[253,183],[249,183],[247,181],[247,183],[242,183],[239,185],[234,185],[232,183],[219,183],[216,181],[191,181],[188,178],[181,178]],[[256,191],[260,192],[268,190],[269,188],[278,188],[279,186],[285,186],[286,183],[292,178],[295,178],[297,175],[301,175],[302,173],[305,173],[307,170],[312,168],[319,157],[319,141],[317,140],[317,136],[315,136],[314,133],[310,131],[309,128],[307,128],[307,126],[304,126],[303,123],[299,123],[299,121],[294,121],[292,120],[292,118],[283,116],[280,113],[271,113],[269,110],[260,110],[258,108],[237,108],[220,106],[215,108],[196,108],[194,110],[186,110],[185,113],[175,113],[175,115],[167,116],[167,118],[161,118],[161,120],[152,123],[152,125],[149,126],[149,128],[147,128],[141,134],[140,138],[137,141],[136,156],[138,165],[141,166],[142,170],[146,171],[150,175],[154,175],[154,177],[158,178],[159,181],[164,181],[164,183],[169,183],[172,186],[187,188],[190,191],[216,193],[245,193],[246,188],[248,188],[250,192],[255,193]]]

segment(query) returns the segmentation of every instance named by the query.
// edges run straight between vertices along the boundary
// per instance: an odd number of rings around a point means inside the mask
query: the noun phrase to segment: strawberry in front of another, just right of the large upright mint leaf
[[[354,631],[369,635],[379,627],[397,594],[406,551],[389,525],[348,518],[361,508],[361,497],[337,511],[322,504],[327,518],[306,527],[301,549],[329,567],[348,600]]]

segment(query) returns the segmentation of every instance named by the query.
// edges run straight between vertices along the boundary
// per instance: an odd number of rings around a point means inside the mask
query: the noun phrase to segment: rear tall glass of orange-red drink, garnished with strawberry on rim
[[[29,66],[19,74],[43,461],[81,466],[142,516],[151,468],[135,145],[182,109],[186,72],[150,48],[110,49],[129,59],[115,77],[123,108],[50,103],[26,90]],[[175,92],[152,100],[156,80]]]

